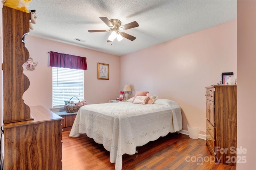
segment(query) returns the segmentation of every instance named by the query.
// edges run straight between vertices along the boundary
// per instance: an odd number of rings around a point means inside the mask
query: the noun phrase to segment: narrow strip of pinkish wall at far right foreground
[[[238,170],[256,169],[256,1],[237,1]],[[246,162],[246,163],[244,163]]]

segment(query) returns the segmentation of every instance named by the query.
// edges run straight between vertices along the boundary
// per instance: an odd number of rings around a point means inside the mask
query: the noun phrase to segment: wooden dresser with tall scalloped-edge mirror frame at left
[[[63,118],[22,99],[30,85],[22,68],[30,17],[3,6],[4,169],[61,170]]]

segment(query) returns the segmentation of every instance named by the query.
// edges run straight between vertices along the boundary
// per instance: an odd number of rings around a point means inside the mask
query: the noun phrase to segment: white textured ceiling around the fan
[[[28,9],[38,18],[30,36],[118,56],[236,20],[236,0],[32,0]],[[110,32],[89,33],[109,30],[101,16],[138,22],[124,30],[136,39],[107,43]]]

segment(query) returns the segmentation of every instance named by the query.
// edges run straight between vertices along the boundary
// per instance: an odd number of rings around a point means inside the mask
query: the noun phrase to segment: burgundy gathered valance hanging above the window
[[[50,66],[87,70],[86,57],[50,52]]]

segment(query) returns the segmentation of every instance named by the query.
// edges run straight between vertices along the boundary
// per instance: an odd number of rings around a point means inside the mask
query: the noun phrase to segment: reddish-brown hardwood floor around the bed
[[[63,170],[114,170],[110,152],[86,134],[68,137],[62,132]],[[137,147],[138,154],[124,154],[122,170],[236,170],[234,166],[215,164],[203,139],[191,139],[185,134],[170,133],[154,142]],[[203,160],[200,161],[202,157]],[[198,161],[197,161],[198,160]]]

